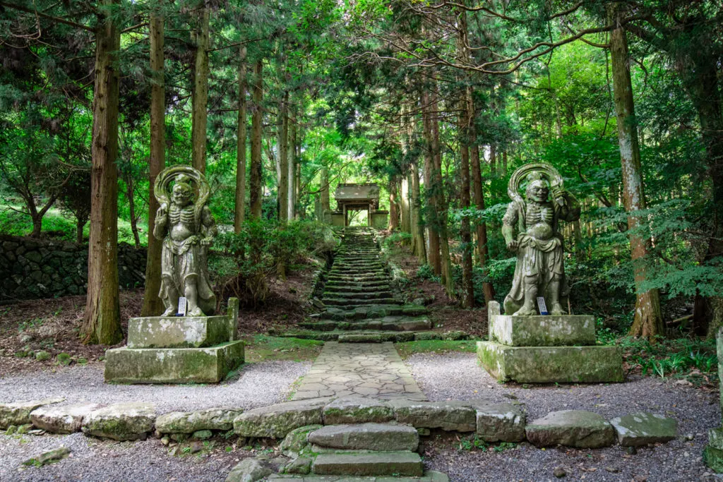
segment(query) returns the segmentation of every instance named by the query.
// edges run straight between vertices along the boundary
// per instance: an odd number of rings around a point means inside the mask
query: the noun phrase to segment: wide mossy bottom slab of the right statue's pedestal
[[[477,359],[502,382],[623,382],[623,355],[615,346],[508,346],[477,342]]]

